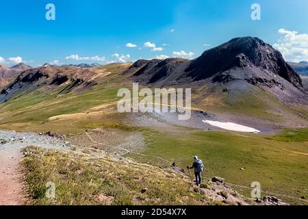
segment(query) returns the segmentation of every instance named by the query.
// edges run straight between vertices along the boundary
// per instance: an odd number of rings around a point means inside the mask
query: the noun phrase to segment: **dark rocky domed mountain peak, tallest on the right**
[[[233,38],[209,49],[192,60],[185,71],[194,81],[198,81],[233,68],[254,68],[269,75],[279,75],[296,87],[303,87],[300,77],[285,62],[281,53],[254,37]]]

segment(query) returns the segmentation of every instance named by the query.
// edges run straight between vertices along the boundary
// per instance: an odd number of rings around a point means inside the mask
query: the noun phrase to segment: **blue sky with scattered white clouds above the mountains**
[[[55,21],[45,18],[47,3]],[[253,3],[261,21],[251,19]],[[194,58],[238,36],[257,36],[297,62],[308,60],[307,9],[307,0],[1,1],[0,64]]]

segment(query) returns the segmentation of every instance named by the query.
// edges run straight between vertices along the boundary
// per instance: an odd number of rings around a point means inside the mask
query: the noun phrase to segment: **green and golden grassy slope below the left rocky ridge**
[[[100,68],[102,67],[98,67],[97,70],[100,70]],[[60,90],[63,89],[62,86],[52,90],[44,86],[34,92],[27,92],[27,90],[18,92],[8,102],[0,105],[0,127],[33,130],[53,116],[99,111],[101,109],[91,109],[104,104],[114,107],[115,101],[118,99],[116,97],[118,89],[123,86],[126,87],[125,83],[122,83],[125,77],[122,76],[119,79],[119,74],[126,68],[127,64],[103,66],[103,69],[110,71],[111,74],[108,77],[98,79],[99,84],[97,86],[84,92],[73,91],[68,94],[60,94]]]

